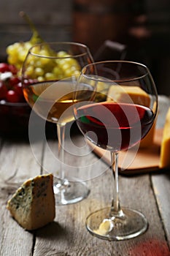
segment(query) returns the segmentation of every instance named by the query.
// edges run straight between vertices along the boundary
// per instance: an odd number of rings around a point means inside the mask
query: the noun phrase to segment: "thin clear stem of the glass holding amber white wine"
[[[60,170],[59,177],[61,180],[64,179],[64,170],[63,170],[63,162],[64,162],[64,140],[65,140],[65,124],[57,124],[57,133],[58,133],[58,158],[60,161]]]

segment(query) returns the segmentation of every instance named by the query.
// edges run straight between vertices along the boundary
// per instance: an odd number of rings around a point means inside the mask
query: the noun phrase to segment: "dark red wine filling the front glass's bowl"
[[[141,105],[100,102],[77,109],[77,124],[101,148],[122,151],[138,143],[152,127],[152,110]]]

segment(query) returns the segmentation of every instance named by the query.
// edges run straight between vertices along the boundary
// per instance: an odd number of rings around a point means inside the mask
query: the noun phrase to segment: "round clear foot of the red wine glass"
[[[95,211],[86,219],[88,231],[98,238],[119,241],[142,235],[147,230],[147,219],[139,211],[122,208],[123,217],[109,217],[110,208]]]

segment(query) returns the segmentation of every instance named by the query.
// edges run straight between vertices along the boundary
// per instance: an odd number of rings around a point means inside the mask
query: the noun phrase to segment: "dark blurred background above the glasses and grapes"
[[[147,64],[159,94],[170,95],[169,0],[1,0],[0,61],[7,45],[28,41],[25,11],[46,41],[88,45],[94,59]]]

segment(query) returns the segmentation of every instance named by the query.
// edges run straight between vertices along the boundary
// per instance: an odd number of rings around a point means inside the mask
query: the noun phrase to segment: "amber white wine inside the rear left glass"
[[[42,118],[54,123],[66,124],[74,120],[73,97],[75,83],[71,80],[35,83],[23,89],[31,108]],[[75,102],[90,99],[91,91],[82,89]]]

